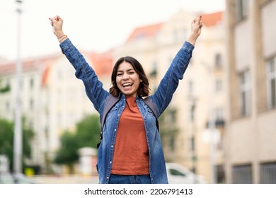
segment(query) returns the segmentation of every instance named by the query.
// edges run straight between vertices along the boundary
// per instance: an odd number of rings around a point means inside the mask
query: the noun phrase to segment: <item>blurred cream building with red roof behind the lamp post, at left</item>
[[[109,88],[113,67],[110,54],[83,52],[105,88]],[[0,96],[0,117],[14,120],[16,95],[16,62],[0,64],[2,85],[11,91]],[[59,136],[73,130],[86,115],[96,113],[88,100],[84,85],[74,75],[74,67],[62,52],[22,60],[21,107],[26,124],[35,132],[32,157],[28,165],[37,165],[42,173],[52,169],[51,161],[59,148]]]

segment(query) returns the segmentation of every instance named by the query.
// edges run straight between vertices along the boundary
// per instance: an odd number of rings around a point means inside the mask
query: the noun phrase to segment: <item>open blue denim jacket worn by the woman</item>
[[[93,103],[95,109],[99,112],[101,118],[105,100],[110,93],[103,89],[103,84],[98,80],[95,71],[88,65],[79,50],[74,47],[69,39],[64,40],[64,42],[60,44],[60,47],[62,48],[62,53],[65,54],[69,62],[71,62],[76,69],[76,77],[84,82],[86,94]],[[173,93],[178,87],[178,82],[183,78],[183,74],[190,62],[193,49],[194,46],[189,42],[183,44],[183,47],[181,47],[178,54],[176,54],[171,66],[161,80],[156,92],[149,96],[154,102],[154,105],[156,105],[156,109],[159,113],[158,116],[162,114],[171,102]],[[103,127],[103,140],[98,148],[97,169],[99,173],[99,183],[108,183],[110,177],[118,123],[120,115],[122,115],[122,111],[125,107],[125,95],[120,94],[119,97],[119,102],[110,110],[106,117]],[[156,127],[156,118],[154,117],[154,113],[143,102],[143,99],[139,97],[139,95],[136,98],[136,102],[144,119],[146,140],[149,147],[149,173],[151,183],[168,183],[163,148],[159,131]]]

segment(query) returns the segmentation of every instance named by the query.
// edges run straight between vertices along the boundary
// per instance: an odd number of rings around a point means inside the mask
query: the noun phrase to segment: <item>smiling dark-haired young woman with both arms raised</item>
[[[76,69],[76,77],[84,82],[86,94],[100,118],[108,96],[111,94],[119,98],[108,112],[98,148],[99,183],[168,183],[156,117],[143,98],[152,100],[157,117],[168,107],[200,36],[201,16],[192,21],[188,40],[176,54],[156,92],[150,96],[148,78],[142,65],[133,57],[117,60],[111,76],[112,87],[105,91],[95,71],[64,34],[62,18],[55,16],[49,19],[62,53]]]

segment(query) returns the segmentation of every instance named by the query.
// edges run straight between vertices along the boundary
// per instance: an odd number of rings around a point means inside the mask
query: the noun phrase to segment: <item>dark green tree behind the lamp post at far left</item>
[[[33,139],[33,130],[28,129],[23,121],[23,167],[25,166],[24,160],[30,158],[31,147],[30,141]],[[10,161],[10,169],[13,167],[13,122],[0,119],[0,154],[4,154]]]

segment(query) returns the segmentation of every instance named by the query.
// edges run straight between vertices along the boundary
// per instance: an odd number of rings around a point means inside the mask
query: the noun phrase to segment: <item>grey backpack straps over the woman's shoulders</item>
[[[111,94],[106,99],[105,107],[103,109],[103,117],[102,117],[102,120],[100,121],[100,140],[103,139],[103,125],[105,124],[106,115],[108,115],[108,112],[116,105],[116,103],[119,100],[120,100],[119,98],[117,98]],[[159,129],[159,122],[158,122],[158,117],[157,117],[158,113],[157,113],[154,103],[152,102],[152,100],[149,97],[144,99],[144,103],[146,103],[146,105],[149,106],[149,108],[152,110],[152,112],[154,112],[154,116],[156,118],[157,129]],[[99,146],[100,146],[100,143],[97,144],[97,148]]]

